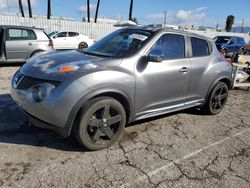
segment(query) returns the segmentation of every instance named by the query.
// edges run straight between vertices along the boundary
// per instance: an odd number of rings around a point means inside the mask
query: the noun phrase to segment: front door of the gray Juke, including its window
[[[190,60],[185,58],[184,36],[164,34],[150,51],[153,50],[162,51],[164,60],[137,64],[136,116],[171,111],[183,107],[186,101]]]

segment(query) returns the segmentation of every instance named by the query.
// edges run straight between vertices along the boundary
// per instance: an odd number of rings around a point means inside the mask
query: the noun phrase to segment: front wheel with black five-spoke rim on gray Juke
[[[111,97],[98,97],[83,107],[73,131],[82,146],[100,150],[120,138],[125,124],[126,113],[121,103]]]

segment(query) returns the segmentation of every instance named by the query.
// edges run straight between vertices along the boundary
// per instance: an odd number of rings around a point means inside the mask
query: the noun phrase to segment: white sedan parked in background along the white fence
[[[94,43],[92,37],[74,31],[53,31],[49,37],[55,49],[84,49]]]

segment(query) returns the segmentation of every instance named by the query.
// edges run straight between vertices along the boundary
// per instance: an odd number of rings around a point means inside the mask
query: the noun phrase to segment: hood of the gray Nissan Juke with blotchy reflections
[[[56,79],[62,80],[65,75],[69,76],[74,73],[60,73],[58,70],[64,65],[74,65],[81,67],[81,71],[76,71],[81,74],[96,71],[110,66],[117,66],[121,62],[120,59],[112,59],[106,57],[90,56],[83,51],[62,51],[52,52],[31,58],[21,68],[21,72],[30,77],[40,79]]]

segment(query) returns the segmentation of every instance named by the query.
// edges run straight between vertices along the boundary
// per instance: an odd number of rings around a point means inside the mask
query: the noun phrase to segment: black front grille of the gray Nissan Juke
[[[48,83],[53,84],[55,87],[57,87],[61,82],[60,81],[54,81],[54,80],[43,80],[38,78],[32,78],[29,76],[23,75],[20,71],[18,71],[13,79],[13,86],[16,89],[29,89],[32,86],[42,84],[42,83]]]

